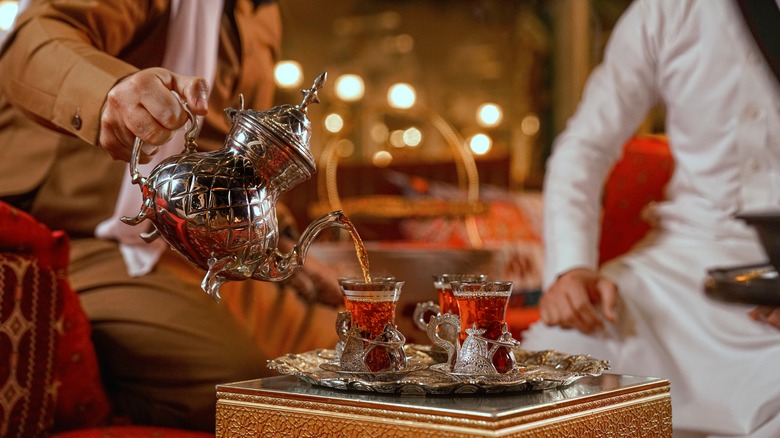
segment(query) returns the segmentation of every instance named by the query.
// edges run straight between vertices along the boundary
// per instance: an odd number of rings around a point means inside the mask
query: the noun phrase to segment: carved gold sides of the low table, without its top
[[[217,395],[217,437],[257,436],[261,432],[325,436],[323,425],[333,434],[345,436],[359,436],[355,433],[362,430],[374,436],[671,437],[672,431],[666,380],[563,400],[552,407],[529,408],[520,415],[498,420],[477,413],[432,415],[425,412],[429,409],[415,406],[388,409],[383,403],[363,400],[339,399],[333,403],[321,396],[289,393],[279,397],[272,391],[268,395],[218,391]],[[314,430],[307,434],[307,427]]]

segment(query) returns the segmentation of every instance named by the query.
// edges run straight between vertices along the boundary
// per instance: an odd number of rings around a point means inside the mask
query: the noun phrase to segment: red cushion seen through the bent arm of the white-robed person
[[[673,170],[665,137],[635,137],[626,143],[604,186],[600,263],[625,253],[647,234],[651,225],[642,211],[664,198]]]

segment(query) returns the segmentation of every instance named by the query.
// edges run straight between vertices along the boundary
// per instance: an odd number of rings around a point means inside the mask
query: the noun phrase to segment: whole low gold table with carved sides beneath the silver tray
[[[669,382],[602,374],[544,391],[415,396],[293,376],[217,386],[217,437],[671,437]]]

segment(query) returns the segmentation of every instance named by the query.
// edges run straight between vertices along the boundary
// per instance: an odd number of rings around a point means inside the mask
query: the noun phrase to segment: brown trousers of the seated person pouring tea
[[[90,319],[114,409],[137,424],[213,431],[220,383],[275,373],[269,358],[336,342],[336,309],[273,283],[233,282],[222,302],[204,273],[172,251],[129,277],[114,242],[71,242],[70,279]]]

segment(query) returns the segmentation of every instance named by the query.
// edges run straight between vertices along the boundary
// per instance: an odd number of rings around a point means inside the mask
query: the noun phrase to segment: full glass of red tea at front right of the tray
[[[458,304],[460,333],[458,341],[460,351],[470,348],[472,342],[480,338],[492,344],[488,357],[499,373],[512,370],[515,364],[510,345],[516,344],[506,324],[506,310],[512,295],[511,281],[476,281],[450,283],[452,294]],[[498,342],[490,342],[498,341]],[[459,359],[463,354],[459,352]]]

